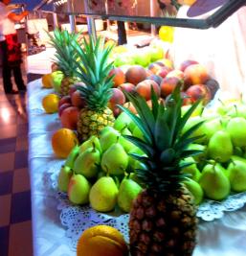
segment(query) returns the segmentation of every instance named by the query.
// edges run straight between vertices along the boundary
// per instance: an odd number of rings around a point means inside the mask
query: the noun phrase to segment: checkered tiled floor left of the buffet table
[[[7,97],[0,78],[0,256],[33,255],[27,134],[26,95]]]

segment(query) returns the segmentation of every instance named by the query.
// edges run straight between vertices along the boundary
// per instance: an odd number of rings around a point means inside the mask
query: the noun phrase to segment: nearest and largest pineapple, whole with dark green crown
[[[152,109],[140,96],[128,93],[126,96],[138,116],[121,108],[142,130],[144,140],[128,135],[125,138],[146,154],[131,154],[145,166],[143,170],[136,170],[138,178],[145,183],[145,190],[136,198],[130,212],[131,255],[191,255],[195,246],[196,208],[190,192],[183,186],[185,166],[181,166],[180,160],[200,152],[190,151],[188,146],[198,138],[190,135],[201,124],[182,132],[198,103],[181,117],[178,87],[166,105],[158,103],[152,90]]]

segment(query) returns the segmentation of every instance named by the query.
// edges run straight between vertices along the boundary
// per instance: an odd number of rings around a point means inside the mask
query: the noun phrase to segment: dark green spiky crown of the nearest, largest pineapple
[[[124,135],[126,139],[145,152],[146,156],[130,154],[145,165],[145,168],[136,170],[138,177],[145,183],[147,189],[154,192],[170,193],[178,190],[182,181],[187,177],[181,171],[190,165],[190,163],[181,164],[180,160],[201,152],[188,150],[188,146],[201,137],[191,135],[202,125],[202,122],[185,133],[182,132],[199,102],[190,106],[190,109],[182,116],[183,99],[180,95],[180,86],[176,86],[166,105],[158,102],[152,88],[152,109],[141,96],[126,92],[125,95],[136,108],[138,116],[121,105],[119,107],[134,121],[144,135],[144,139]]]

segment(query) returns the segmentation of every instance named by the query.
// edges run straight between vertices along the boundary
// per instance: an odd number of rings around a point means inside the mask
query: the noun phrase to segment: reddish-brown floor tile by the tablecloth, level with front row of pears
[[[30,190],[29,170],[18,169],[13,172],[12,193],[18,193]]]

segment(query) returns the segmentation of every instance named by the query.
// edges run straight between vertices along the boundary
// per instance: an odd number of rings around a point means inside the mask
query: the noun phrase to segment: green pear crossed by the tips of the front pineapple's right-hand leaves
[[[201,123],[201,122],[204,122],[205,119],[201,116],[193,116],[193,117],[190,117],[185,125],[185,127],[183,128],[182,130],[182,133],[184,134],[186,131],[188,131],[190,128],[192,128],[193,126],[197,125],[198,123]],[[204,131],[203,131],[203,125],[201,125],[199,128],[197,128],[191,135],[191,137],[195,137],[195,136],[201,136],[203,135],[202,138],[200,139],[197,139],[195,141],[195,143],[198,143],[198,144],[203,144],[205,143],[206,141],[206,137],[204,136]]]

